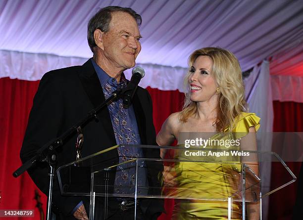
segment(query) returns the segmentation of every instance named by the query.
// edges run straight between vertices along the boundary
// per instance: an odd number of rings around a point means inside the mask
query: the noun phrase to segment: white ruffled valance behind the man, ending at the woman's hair
[[[0,50],[0,78],[37,81],[50,70],[82,65],[87,60],[87,58],[79,57]],[[183,91],[182,83],[187,68],[154,64],[137,65],[143,67],[146,72],[140,82],[143,88]],[[131,75],[131,69],[125,71],[127,79],[130,79]]]

